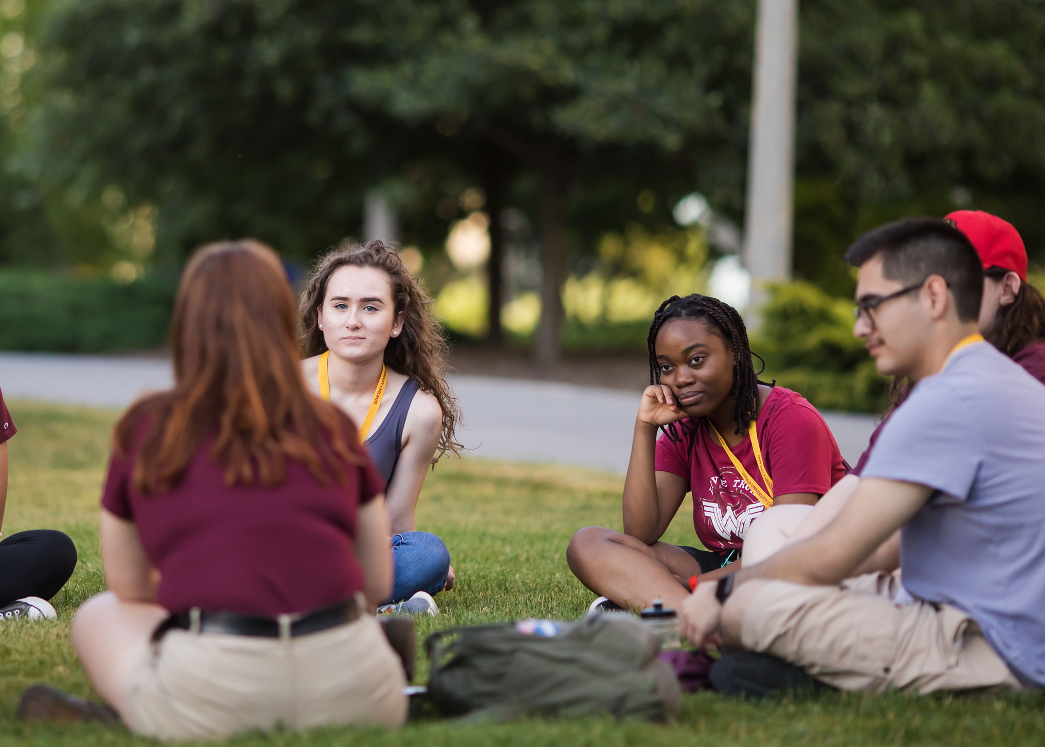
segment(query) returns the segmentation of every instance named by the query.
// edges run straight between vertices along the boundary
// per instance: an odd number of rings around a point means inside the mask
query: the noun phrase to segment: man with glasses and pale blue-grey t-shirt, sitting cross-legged
[[[727,691],[800,679],[784,662],[852,691],[1045,686],[1045,387],[980,336],[983,268],[954,226],[898,221],[846,257],[854,333],[912,389],[834,520],[698,587],[682,634],[742,650],[712,671]],[[902,583],[856,575],[890,556]]]

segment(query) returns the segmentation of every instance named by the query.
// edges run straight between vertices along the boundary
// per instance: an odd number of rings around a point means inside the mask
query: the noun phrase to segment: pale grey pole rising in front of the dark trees
[[[791,276],[798,0],[759,0],[747,154],[744,258],[751,299]]]

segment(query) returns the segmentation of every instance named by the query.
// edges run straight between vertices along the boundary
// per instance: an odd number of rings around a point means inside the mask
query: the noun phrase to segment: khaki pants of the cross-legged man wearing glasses
[[[972,617],[949,605],[895,604],[896,589],[886,573],[840,587],[765,582],[744,613],[741,641],[841,689],[1023,688]]]

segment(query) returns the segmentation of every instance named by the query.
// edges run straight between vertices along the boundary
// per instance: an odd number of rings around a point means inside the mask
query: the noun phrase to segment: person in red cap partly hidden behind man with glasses
[[[1045,297],[1027,282],[1019,231],[982,210],[955,210],[944,220],[969,237],[983,263],[980,334],[1045,383]]]

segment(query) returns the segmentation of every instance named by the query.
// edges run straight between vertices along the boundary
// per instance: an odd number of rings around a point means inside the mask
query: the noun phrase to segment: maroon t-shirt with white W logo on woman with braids
[[[773,481],[774,496],[823,495],[845,476],[845,462],[831,429],[802,394],[774,387],[754,418],[754,428],[766,472]],[[747,527],[765,506],[702,420],[696,429],[690,421],[684,421],[676,430],[682,435],[679,443],[667,435],[657,439],[654,469],[687,480],[693,493],[693,526],[704,547],[711,550],[740,547]],[[733,453],[765,490],[750,436],[745,434]]]

